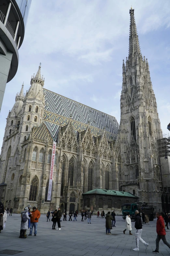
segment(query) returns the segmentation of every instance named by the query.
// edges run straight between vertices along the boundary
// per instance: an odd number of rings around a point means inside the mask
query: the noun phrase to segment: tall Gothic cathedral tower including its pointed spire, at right
[[[161,209],[162,178],[157,140],[162,136],[148,60],[142,57],[134,9],[130,9],[129,56],[122,66],[120,190]]]

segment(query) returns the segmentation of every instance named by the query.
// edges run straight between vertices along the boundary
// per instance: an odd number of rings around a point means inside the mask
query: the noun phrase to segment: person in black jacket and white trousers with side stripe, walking
[[[147,244],[142,238],[142,220],[140,213],[136,210],[135,211],[136,218],[135,218],[135,237],[136,237],[136,247],[133,249],[134,251],[139,251],[139,240],[144,244],[145,248],[147,249],[149,244]]]

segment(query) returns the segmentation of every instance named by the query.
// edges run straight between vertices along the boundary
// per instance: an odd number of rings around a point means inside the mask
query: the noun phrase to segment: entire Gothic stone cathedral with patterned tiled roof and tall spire
[[[157,145],[162,130],[134,9],[130,9],[129,56],[122,67],[120,127],[114,117],[44,89],[40,71],[41,66],[25,95],[22,85],[7,116],[0,156],[0,199],[5,207],[16,213],[28,203],[41,213],[59,206],[80,210],[87,207],[87,192],[105,189],[129,192],[134,200],[162,210]],[[48,201],[53,141],[57,146]]]

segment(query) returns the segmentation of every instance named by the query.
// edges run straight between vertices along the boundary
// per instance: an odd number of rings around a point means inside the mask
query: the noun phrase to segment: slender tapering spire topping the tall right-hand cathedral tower
[[[129,57],[131,55],[140,55],[139,39],[135,24],[134,9],[129,10],[130,13],[130,32],[129,32]]]

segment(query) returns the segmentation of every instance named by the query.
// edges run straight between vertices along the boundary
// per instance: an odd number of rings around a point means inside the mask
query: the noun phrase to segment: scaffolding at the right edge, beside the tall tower
[[[169,133],[164,133],[161,138],[157,140],[159,157],[170,156],[170,136]]]

